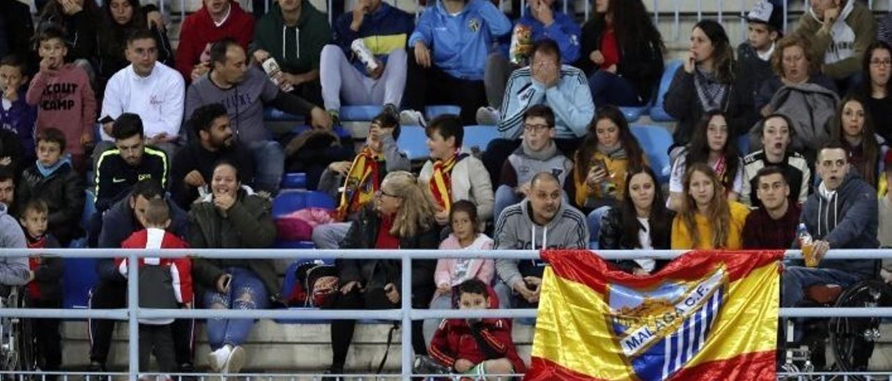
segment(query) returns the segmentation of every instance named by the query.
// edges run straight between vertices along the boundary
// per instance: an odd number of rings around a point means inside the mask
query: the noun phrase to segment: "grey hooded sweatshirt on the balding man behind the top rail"
[[[585,215],[561,202],[554,218],[541,226],[533,222],[530,199],[505,208],[495,228],[494,247],[500,250],[541,248],[588,248],[589,229]],[[541,278],[545,263],[540,260],[497,259],[499,278],[511,287],[523,277]]]

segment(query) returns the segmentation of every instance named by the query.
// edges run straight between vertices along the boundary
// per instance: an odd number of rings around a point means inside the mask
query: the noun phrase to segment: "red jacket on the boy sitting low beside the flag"
[[[511,340],[511,320],[508,319],[483,319],[475,325],[477,332],[496,354],[498,358],[506,358],[514,366],[515,373],[524,373],[526,366],[517,355],[514,341]],[[443,320],[440,328],[434,333],[431,347],[428,351],[431,358],[448,367],[455,365],[458,359],[474,362],[475,365],[487,360],[486,355],[477,345],[477,340],[471,333],[471,327],[467,320],[452,319]]]

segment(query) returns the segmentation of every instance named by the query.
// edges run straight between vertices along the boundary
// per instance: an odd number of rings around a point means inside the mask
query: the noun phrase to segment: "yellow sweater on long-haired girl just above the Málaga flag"
[[[747,222],[749,208],[737,201],[729,201],[728,207],[731,209],[731,231],[728,232],[728,240],[724,249],[739,250],[743,248],[743,225]],[[700,242],[697,246],[691,241],[690,232],[681,220],[681,214],[676,215],[672,223],[672,248],[673,249],[712,249],[713,228],[712,223],[706,219],[705,215],[699,213],[694,216],[694,222],[697,223],[697,230],[700,235]]]

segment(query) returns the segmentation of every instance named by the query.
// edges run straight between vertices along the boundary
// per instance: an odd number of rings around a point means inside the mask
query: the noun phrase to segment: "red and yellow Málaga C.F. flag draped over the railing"
[[[782,251],[692,251],[636,277],[550,250],[526,380],[774,380]]]

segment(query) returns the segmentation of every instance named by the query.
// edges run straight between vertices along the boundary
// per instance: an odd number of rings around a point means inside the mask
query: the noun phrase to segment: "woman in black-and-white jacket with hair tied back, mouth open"
[[[783,114],[772,114],[763,119],[762,150],[743,158],[743,190],[740,202],[750,207],[761,207],[762,200],[753,197],[759,189],[759,171],[766,166],[778,166],[783,172],[784,184],[789,188],[791,204],[801,204],[808,197],[812,183],[812,168],[808,160],[795,150],[789,150],[793,123]]]

